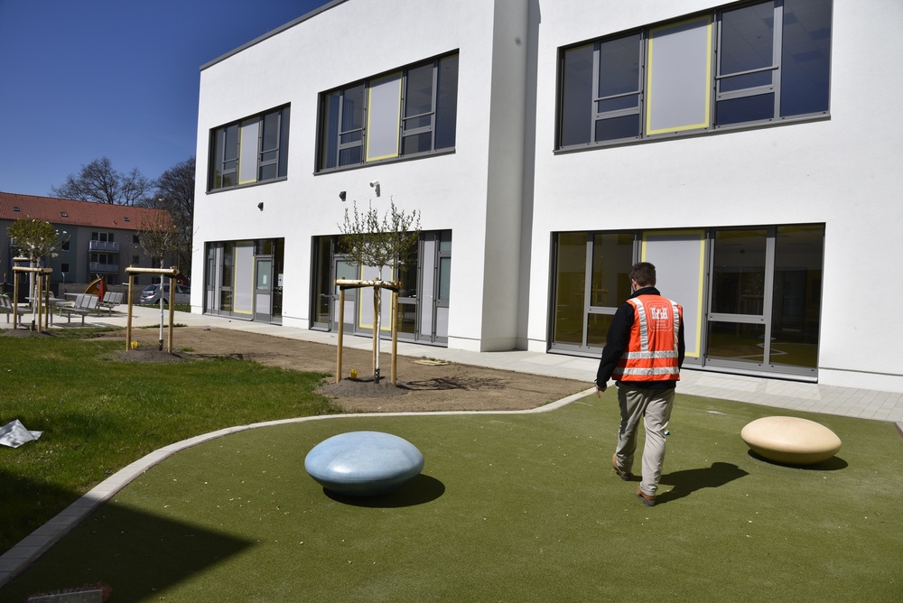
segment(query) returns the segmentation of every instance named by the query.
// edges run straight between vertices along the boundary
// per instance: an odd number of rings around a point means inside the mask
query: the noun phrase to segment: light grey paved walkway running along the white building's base
[[[125,327],[126,306],[112,316],[88,316],[85,326]],[[155,308],[133,306],[132,327],[160,324],[160,311]],[[219,316],[176,312],[176,324],[190,327],[210,327],[211,329],[235,329],[249,333],[272,335],[284,339],[315,341],[336,345],[335,333],[294,329],[279,325],[235,320]],[[80,320],[66,324],[56,317],[54,329],[80,327]],[[173,335],[174,346],[179,347],[179,331]],[[347,348],[370,349],[371,340],[360,337],[346,337]],[[515,373],[556,376],[586,381],[592,385],[596,376],[598,359],[541,354],[537,352],[469,352],[459,349],[435,348],[412,343],[398,343],[398,353],[408,357],[431,357],[460,364],[487,366]],[[735,400],[749,404],[761,404],[787,410],[810,413],[839,414],[877,421],[903,422],[903,394],[875,390],[835,387],[784,381],[754,376],[726,375],[707,371],[685,369],[681,373],[678,394],[693,394],[711,398]],[[903,427],[903,426],[901,426]]]

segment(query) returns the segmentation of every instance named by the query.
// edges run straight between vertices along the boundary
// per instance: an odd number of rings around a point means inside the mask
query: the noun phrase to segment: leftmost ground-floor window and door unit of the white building
[[[208,243],[204,311],[282,323],[284,239]]]

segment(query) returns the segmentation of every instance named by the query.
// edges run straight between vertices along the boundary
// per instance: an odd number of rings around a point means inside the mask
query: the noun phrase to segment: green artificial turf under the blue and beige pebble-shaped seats
[[[837,433],[810,468],[749,453],[792,414]],[[120,492],[2,600],[105,583],[127,601],[852,601],[903,593],[903,439],[892,423],[678,394],[659,505],[610,468],[615,394],[551,413],[343,417],[184,450]],[[330,496],[308,450],[387,431],[423,474]],[[638,470],[638,467],[635,468]]]

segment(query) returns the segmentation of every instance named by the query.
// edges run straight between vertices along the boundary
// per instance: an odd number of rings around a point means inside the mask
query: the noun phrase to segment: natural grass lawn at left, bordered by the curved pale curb
[[[0,337],[0,425],[18,419],[41,439],[0,448],[0,552],[90,487],[148,452],[224,427],[335,407],[321,377],[252,362],[120,362],[122,342]]]

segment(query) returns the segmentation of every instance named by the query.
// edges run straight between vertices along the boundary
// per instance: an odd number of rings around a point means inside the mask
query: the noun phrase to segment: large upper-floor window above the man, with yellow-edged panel
[[[564,49],[557,147],[824,116],[831,0],[769,0]]]

